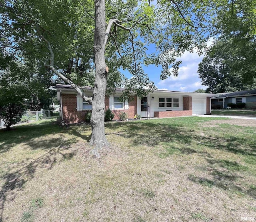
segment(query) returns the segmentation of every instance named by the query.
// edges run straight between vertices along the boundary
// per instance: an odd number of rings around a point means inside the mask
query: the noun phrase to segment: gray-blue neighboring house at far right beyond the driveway
[[[227,108],[228,103],[244,102],[246,108],[256,108],[256,89],[239,91],[239,92],[226,92],[217,97],[211,98],[211,103],[220,105],[222,108]]]

